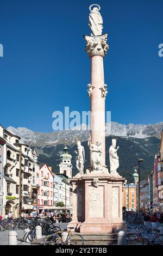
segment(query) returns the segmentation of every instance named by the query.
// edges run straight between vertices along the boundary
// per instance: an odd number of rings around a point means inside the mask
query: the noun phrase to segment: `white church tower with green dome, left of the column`
[[[68,149],[65,146],[64,152],[60,155],[59,173],[65,174],[68,178],[72,178],[72,156],[68,154]]]

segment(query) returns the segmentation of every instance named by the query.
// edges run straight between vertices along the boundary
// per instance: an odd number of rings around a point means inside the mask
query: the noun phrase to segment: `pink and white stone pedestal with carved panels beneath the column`
[[[99,181],[98,186],[93,180]],[[74,176],[73,218],[68,227],[82,233],[112,233],[126,231],[122,221],[122,183],[120,176],[109,172],[87,172]]]

